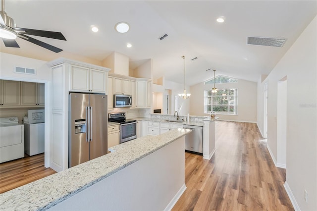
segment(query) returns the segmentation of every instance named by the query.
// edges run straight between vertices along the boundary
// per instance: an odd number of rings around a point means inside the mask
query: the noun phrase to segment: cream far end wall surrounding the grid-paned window
[[[204,114],[204,90],[211,90],[213,84],[204,82],[191,86],[190,114]],[[243,122],[257,121],[257,83],[238,79],[237,83],[216,84],[217,89],[237,88],[237,115],[217,115],[220,120],[232,120]]]

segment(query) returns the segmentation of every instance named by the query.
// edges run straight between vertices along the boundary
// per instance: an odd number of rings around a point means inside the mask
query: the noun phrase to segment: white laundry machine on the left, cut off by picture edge
[[[0,118],[0,162],[24,158],[24,125],[18,117]]]

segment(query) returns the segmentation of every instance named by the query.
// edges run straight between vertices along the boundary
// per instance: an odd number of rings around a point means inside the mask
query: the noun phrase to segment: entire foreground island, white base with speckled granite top
[[[176,129],[0,194],[0,210],[170,210],[186,189],[185,135]]]

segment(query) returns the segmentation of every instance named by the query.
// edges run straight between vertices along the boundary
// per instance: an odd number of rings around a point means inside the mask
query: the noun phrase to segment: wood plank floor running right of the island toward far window
[[[216,121],[211,160],[186,153],[187,189],[173,211],[294,210],[255,123]]]

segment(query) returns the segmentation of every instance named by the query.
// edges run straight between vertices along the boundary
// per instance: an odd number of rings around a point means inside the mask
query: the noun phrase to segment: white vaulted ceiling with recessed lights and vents
[[[194,85],[216,75],[257,81],[268,74],[317,15],[316,0],[120,1],[6,0],[17,27],[59,31],[67,41],[34,37],[63,49],[53,53],[20,38],[19,49],[0,51],[38,59],[77,55],[102,61],[111,52],[129,56],[130,68],[153,59],[153,77]],[[216,22],[219,16],[224,23]],[[130,31],[114,30],[117,22]],[[98,33],[91,26],[99,28]],[[160,41],[159,37],[168,34]],[[287,38],[285,45],[246,45],[247,36]],[[132,48],[126,48],[131,43]],[[305,52],[303,52],[305,53]],[[192,58],[198,57],[195,61]]]

